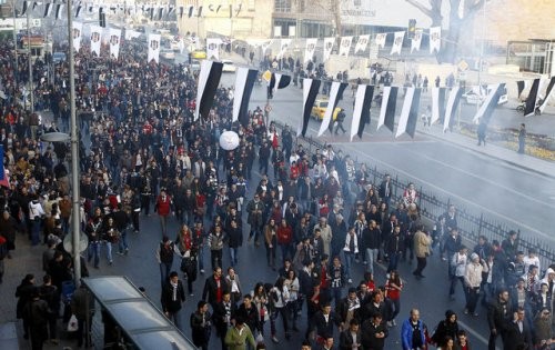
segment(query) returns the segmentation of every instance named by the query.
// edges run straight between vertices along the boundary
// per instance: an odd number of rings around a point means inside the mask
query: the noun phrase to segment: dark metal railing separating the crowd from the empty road
[[[279,121],[274,121],[278,129],[283,130],[285,127]],[[297,144],[303,144],[309,153],[315,151],[315,149],[323,150],[326,144],[313,139],[312,137],[303,138],[299,137],[294,139],[293,147]],[[360,162],[355,161],[356,168],[361,166]],[[371,173],[371,179],[373,184],[379,184],[385,177],[386,172],[381,171],[377,167],[371,167],[366,164],[369,172]],[[408,183],[413,182],[406,178],[401,178],[398,174],[390,173],[392,180],[392,198],[395,201],[401,200],[404,189],[408,187]],[[464,239],[471,242],[477,242],[480,236],[487,238],[490,242],[497,240],[502,242],[508,237],[511,230],[518,232],[518,249],[527,253],[531,248],[536,249],[537,256],[542,262],[543,269],[547,268],[551,263],[555,262],[555,250],[548,247],[541,238],[537,237],[522,237],[521,229],[509,226],[507,222],[497,221],[487,216],[487,213],[473,210],[471,208],[465,208],[460,203],[453,202],[448,197],[441,198],[438,194],[428,191],[425,188],[420,187],[418,189],[418,207],[421,209],[421,214],[435,222],[438,217],[445,213],[451,204],[455,204],[457,210],[457,226],[458,231]],[[472,248],[472,247],[471,247]]]

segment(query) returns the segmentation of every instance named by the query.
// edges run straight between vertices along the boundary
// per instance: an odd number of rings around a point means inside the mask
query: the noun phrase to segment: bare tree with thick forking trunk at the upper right
[[[432,27],[442,26],[442,4],[444,0],[428,0],[427,4],[421,0],[405,0],[422,13],[432,19]],[[446,0],[450,6],[450,26],[447,36],[443,38],[442,50],[437,53],[437,61],[454,63],[460,50],[461,33],[468,29],[474,17],[483,8],[486,0]],[[463,9],[460,11],[461,1],[464,1]]]

